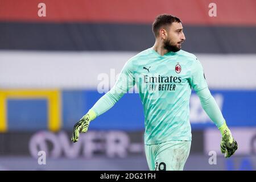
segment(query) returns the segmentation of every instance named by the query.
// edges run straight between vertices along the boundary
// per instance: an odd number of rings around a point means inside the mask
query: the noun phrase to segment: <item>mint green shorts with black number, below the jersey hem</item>
[[[150,171],[182,171],[188,159],[191,141],[168,141],[145,145]]]

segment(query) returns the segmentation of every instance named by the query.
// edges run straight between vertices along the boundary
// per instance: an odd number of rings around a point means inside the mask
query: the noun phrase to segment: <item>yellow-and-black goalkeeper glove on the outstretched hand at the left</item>
[[[96,113],[90,109],[87,114],[85,114],[79,122],[77,122],[73,128],[72,142],[77,142],[79,140],[79,133],[86,133],[88,131],[89,123],[96,118]]]

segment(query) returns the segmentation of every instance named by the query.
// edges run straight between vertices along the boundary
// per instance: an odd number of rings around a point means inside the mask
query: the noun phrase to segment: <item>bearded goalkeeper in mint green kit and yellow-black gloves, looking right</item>
[[[109,110],[134,85],[144,109],[144,149],[150,170],[183,170],[191,148],[189,98],[200,98],[209,118],[221,132],[221,152],[229,158],[237,142],[210,94],[200,61],[181,50],[185,40],[181,20],[162,14],[152,24],[155,44],[131,57],[115,85],[77,122],[72,141],[88,130],[90,121]]]

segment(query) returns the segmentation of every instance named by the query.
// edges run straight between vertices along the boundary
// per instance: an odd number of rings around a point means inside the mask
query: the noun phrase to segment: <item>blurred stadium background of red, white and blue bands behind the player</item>
[[[42,2],[46,16],[39,17]],[[217,16],[209,16],[210,3]],[[148,170],[137,93],[90,123],[78,143],[70,138],[125,62],[154,44],[151,23],[163,13],[183,21],[183,49],[199,57],[238,142],[225,159],[221,135],[192,92],[185,170],[255,170],[254,0],[0,0],[0,169]],[[39,151],[46,151],[45,165]],[[217,164],[210,164],[214,151]]]

